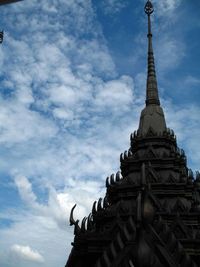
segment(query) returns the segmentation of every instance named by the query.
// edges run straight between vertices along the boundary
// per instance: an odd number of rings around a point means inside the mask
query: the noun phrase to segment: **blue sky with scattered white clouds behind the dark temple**
[[[1,6],[0,266],[64,266],[81,218],[138,128],[143,0]],[[153,42],[168,127],[199,169],[200,2],[155,0]]]

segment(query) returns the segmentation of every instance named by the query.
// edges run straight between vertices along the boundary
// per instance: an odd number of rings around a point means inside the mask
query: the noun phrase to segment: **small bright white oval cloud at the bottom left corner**
[[[44,262],[42,255],[40,255],[38,251],[31,249],[29,246],[15,244],[11,247],[11,252],[24,260],[34,261],[37,263]]]

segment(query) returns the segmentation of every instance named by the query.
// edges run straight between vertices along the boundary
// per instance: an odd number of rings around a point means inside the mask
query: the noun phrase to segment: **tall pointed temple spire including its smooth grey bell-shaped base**
[[[153,5],[150,0],[147,1],[145,13],[148,16],[148,66],[147,66],[147,84],[146,84],[146,107],[143,109],[140,117],[139,133],[146,135],[149,130],[155,134],[163,133],[166,130],[165,117],[158,96],[158,86],[156,79],[152,31],[151,31],[151,14]]]

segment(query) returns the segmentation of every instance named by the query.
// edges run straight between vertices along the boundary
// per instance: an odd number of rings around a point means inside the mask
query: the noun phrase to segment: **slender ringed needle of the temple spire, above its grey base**
[[[148,16],[148,72],[146,85],[146,105],[160,105],[152,45],[151,14],[153,13],[154,9],[151,1],[147,1],[144,11]]]

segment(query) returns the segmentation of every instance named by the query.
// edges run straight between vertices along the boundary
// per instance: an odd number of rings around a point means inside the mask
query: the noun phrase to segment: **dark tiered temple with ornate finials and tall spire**
[[[82,222],[74,219],[74,242],[66,267],[199,267],[200,174],[166,126],[160,106],[147,1],[148,70],[145,108],[121,172],[106,179],[104,199]]]

